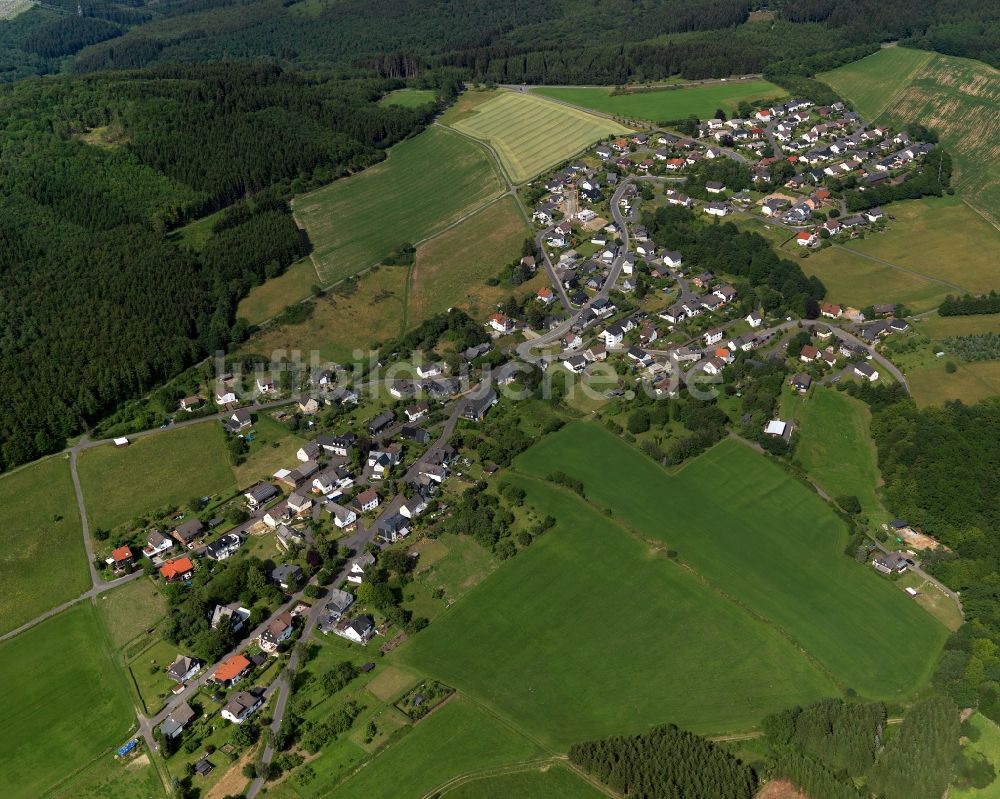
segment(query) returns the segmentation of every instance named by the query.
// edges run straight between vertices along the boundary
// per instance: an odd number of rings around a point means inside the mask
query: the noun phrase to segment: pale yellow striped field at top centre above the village
[[[609,133],[628,130],[522,92],[502,92],[451,125],[492,146],[514,183],[533,178]]]

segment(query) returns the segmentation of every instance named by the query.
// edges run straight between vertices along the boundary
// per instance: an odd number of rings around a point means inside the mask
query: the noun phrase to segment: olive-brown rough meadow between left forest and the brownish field
[[[299,350],[321,361],[348,364],[355,350],[374,348],[402,331],[408,270],[384,266],[358,278],[357,286],[341,285],[316,300],[304,322],[269,327],[244,345],[258,354]]]

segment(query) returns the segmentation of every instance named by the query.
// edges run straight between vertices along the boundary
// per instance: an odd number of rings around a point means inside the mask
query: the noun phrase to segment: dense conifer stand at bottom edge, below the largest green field
[[[710,741],[675,726],[588,741],[569,758],[620,794],[636,799],[750,799],[753,770]]]

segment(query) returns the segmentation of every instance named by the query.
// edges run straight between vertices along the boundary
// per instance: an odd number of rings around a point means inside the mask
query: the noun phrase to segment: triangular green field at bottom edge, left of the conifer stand
[[[338,799],[427,795],[449,780],[479,769],[520,763],[542,755],[539,748],[456,697],[391,743],[335,790],[313,783],[310,795]],[[333,788],[333,786],[328,786]]]

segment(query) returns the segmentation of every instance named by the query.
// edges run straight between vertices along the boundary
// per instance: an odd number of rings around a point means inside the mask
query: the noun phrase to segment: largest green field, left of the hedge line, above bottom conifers
[[[745,730],[835,693],[793,646],[569,492],[512,475],[556,526],[402,651],[554,748],[675,722]]]

